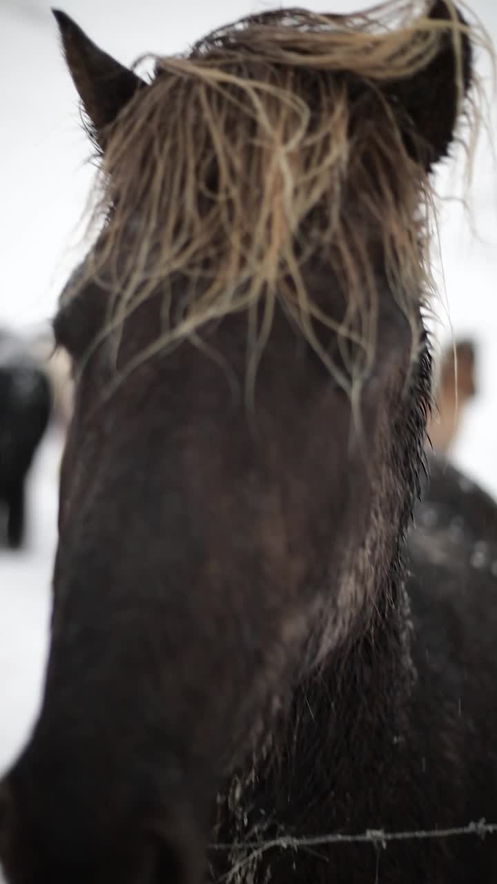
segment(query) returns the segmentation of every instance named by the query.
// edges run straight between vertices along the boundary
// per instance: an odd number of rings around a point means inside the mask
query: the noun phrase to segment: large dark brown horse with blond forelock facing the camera
[[[55,15],[100,174],[6,879],[490,884],[497,508],[424,448],[485,31],[264,11],[146,73]]]

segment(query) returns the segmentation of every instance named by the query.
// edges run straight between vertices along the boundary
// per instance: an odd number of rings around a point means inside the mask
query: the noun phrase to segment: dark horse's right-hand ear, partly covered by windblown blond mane
[[[385,91],[399,113],[409,154],[431,171],[454,138],[471,84],[472,53],[466,22],[451,0],[435,0],[427,19],[438,35],[434,55],[412,75],[386,83]]]

